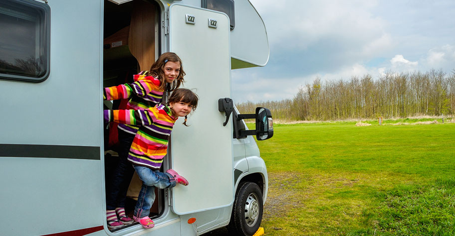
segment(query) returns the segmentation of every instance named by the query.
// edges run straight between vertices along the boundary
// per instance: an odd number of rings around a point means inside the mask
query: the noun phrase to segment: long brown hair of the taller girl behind
[[[169,86],[167,86],[167,83],[164,80],[163,73],[164,66],[168,61],[180,62],[179,76],[177,76],[177,78],[171,84],[169,84]],[[158,60],[155,63],[153,63],[153,65],[150,67],[150,70],[147,72],[147,75],[151,75],[154,77],[157,76],[158,79],[161,81],[160,89],[167,91],[174,91],[185,82],[185,80],[183,79],[183,77],[185,76],[185,71],[183,71],[182,60],[180,59],[179,56],[177,56],[177,54],[173,52],[165,52],[161,54],[160,57],[158,57]]]

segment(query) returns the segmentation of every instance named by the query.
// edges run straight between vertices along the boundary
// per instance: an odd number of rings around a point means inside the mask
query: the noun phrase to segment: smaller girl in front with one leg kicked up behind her
[[[144,228],[155,226],[149,218],[155,201],[155,187],[173,188],[176,182],[187,186],[188,181],[176,171],[159,172],[167,153],[169,136],[178,117],[185,117],[196,110],[198,96],[189,89],[176,89],[166,105],[157,105],[146,110],[104,110],[105,121],[140,125],[128,153],[128,161],[142,180],[142,189],[134,209],[134,221]],[[188,126],[188,125],[187,125]]]

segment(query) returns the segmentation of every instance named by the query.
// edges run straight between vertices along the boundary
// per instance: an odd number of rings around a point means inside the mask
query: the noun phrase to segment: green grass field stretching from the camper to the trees
[[[276,124],[257,142],[266,236],[455,235],[455,123],[355,123]]]

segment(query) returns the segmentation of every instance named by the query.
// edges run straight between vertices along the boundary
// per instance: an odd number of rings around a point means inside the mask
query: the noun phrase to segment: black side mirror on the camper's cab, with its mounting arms
[[[237,125],[234,125],[234,138],[245,138],[248,135],[256,135],[257,140],[269,139],[273,136],[273,120],[270,110],[266,108],[256,108],[255,114],[238,114],[235,116]],[[254,119],[256,129],[243,130],[239,129],[238,122],[242,119]]]

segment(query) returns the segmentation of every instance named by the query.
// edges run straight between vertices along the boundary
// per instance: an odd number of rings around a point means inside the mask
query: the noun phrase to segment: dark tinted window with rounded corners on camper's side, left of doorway
[[[50,8],[33,0],[0,1],[0,78],[39,82],[49,74]]]

